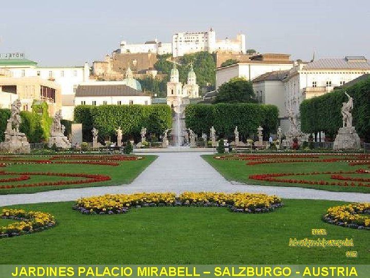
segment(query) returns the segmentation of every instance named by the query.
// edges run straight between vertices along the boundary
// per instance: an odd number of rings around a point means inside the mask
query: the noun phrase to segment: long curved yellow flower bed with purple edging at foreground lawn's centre
[[[276,196],[250,193],[184,192],[116,194],[81,198],[73,206],[84,214],[120,214],[145,206],[224,206],[233,212],[264,213],[282,206]]]

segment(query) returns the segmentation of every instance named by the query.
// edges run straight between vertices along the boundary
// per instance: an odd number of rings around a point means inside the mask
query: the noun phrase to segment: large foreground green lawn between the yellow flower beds
[[[58,225],[0,239],[0,264],[368,264],[369,231],[325,223],[338,201],[283,200],[268,214],[219,207],[146,207],[125,215],[82,215],[73,202],[17,205],[53,214]],[[326,236],[311,229],[326,229]],[[354,247],[289,247],[289,239],[353,238]],[[346,250],[358,251],[347,258]]]

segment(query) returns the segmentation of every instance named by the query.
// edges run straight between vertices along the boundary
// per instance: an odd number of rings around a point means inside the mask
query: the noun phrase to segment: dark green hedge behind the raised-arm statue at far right
[[[342,103],[354,98],[353,125],[360,137],[370,142],[370,78],[359,81],[345,89],[338,89],[320,97],[306,99],[301,103],[301,130],[306,133],[323,131],[334,138],[342,127]]]

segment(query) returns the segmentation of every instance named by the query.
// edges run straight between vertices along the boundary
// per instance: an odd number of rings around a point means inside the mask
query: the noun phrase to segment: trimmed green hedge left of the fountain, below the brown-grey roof
[[[93,140],[93,127],[101,137],[115,136],[120,126],[124,138],[138,138],[142,127],[146,127],[147,133],[155,134],[170,128],[172,110],[168,105],[84,105],[75,107],[75,123],[82,124],[85,142]]]

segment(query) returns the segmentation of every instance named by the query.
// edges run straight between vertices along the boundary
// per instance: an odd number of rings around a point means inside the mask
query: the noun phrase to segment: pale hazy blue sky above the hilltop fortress
[[[6,2],[6,3],[5,3]],[[171,42],[181,31],[246,34],[247,48],[293,59],[370,59],[370,1],[19,0],[0,4],[0,53],[24,52],[43,66],[101,60],[121,40]]]

